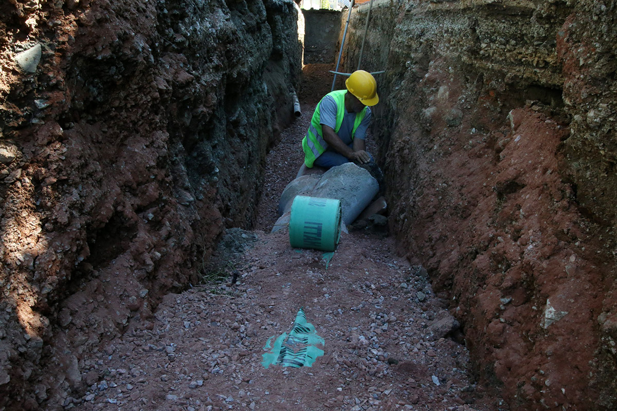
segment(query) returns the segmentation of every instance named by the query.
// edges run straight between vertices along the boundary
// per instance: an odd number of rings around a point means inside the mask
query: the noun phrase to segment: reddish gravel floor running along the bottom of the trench
[[[256,229],[228,231],[205,269],[212,281],[167,295],[154,318],[86,360],[88,389],[64,408],[503,409],[474,384],[460,336],[439,335],[447,303],[421,266],[395,255],[384,228],[343,234],[327,269],[321,252],[292,249],[286,231],[270,234],[302,161],[300,139],[329,91],[327,70],[305,67],[302,116],[268,155]],[[221,274],[238,280],[215,281]],[[268,338],[288,331],[300,307],[325,354],[312,367],[264,368]]]

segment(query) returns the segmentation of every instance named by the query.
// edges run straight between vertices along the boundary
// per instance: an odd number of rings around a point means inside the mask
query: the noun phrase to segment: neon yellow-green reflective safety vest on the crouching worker
[[[333,92],[329,92],[325,97],[331,96],[336,103],[336,127],[334,128],[334,132],[338,133],[339,129],[341,129],[341,124],[343,123],[343,117],[345,116],[345,93],[347,90],[336,90]],[[324,97],[324,98],[325,98]],[[313,113],[313,118],[310,121],[309,131],[307,131],[307,135],[302,139],[302,149],[304,150],[304,164],[311,168],[313,163],[315,162],[315,158],[319,157],[323,152],[328,149],[328,143],[323,140],[323,131],[321,130],[320,118],[321,118],[321,101],[315,108],[315,113]],[[351,139],[353,140],[355,137],[355,131],[362,123],[364,116],[366,115],[366,107],[360,113],[356,113],[354,128],[351,131]]]

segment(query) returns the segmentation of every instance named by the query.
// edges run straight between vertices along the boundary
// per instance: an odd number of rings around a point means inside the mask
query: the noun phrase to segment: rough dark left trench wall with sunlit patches
[[[299,24],[291,0],[2,2],[0,409],[70,404],[89,352],[250,226]]]

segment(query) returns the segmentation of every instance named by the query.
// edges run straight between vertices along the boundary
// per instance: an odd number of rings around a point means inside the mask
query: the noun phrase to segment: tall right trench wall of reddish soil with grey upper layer
[[[362,68],[387,70],[373,132],[402,251],[511,409],[616,409],[617,5],[374,6]]]

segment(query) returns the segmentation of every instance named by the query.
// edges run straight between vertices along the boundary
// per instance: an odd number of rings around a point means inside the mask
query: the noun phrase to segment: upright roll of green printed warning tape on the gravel
[[[291,204],[289,243],[294,248],[334,251],[341,239],[341,201],[298,195]]]

